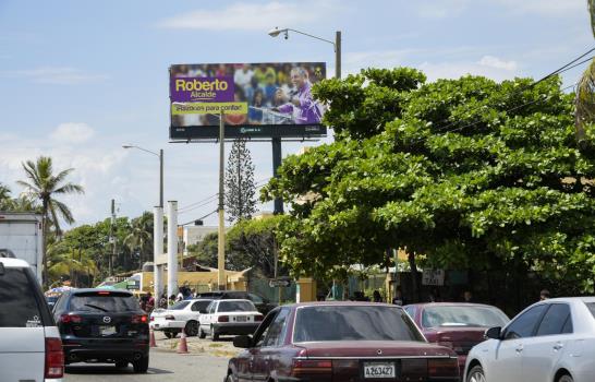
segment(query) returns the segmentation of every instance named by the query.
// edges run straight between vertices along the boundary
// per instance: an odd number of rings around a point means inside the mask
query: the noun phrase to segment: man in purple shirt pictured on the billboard
[[[274,111],[291,115],[295,124],[320,123],[324,109],[312,96],[312,83],[307,71],[302,67],[291,70],[291,83],[293,88],[286,94],[282,88],[275,93],[275,103],[280,104],[274,107]]]

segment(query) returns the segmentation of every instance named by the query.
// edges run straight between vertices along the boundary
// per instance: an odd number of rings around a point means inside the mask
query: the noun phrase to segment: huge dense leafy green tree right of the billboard
[[[559,79],[424,84],[365,70],[315,87],[337,141],[290,156],[263,191],[292,201],[281,255],[296,274],[384,264],[387,249],[432,266],[514,261],[593,291],[594,131],[574,139]]]

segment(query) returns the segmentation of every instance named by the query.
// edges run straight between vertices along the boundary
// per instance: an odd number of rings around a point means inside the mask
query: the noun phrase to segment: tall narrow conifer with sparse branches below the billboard
[[[256,212],[254,165],[246,140],[233,141],[226,170],[226,212],[229,222],[250,219]]]

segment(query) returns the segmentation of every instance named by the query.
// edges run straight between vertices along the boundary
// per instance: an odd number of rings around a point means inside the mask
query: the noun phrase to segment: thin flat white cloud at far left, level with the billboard
[[[101,82],[108,79],[104,74],[89,74],[75,68],[37,68],[3,72],[7,76],[25,77],[38,84],[78,85]]]

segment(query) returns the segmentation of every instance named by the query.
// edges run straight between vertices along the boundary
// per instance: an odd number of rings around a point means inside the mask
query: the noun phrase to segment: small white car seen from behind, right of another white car
[[[201,317],[198,336],[205,338],[208,333],[212,341],[217,341],[224,334],[252,334],[263,319],[251,300],[214,300]]]

